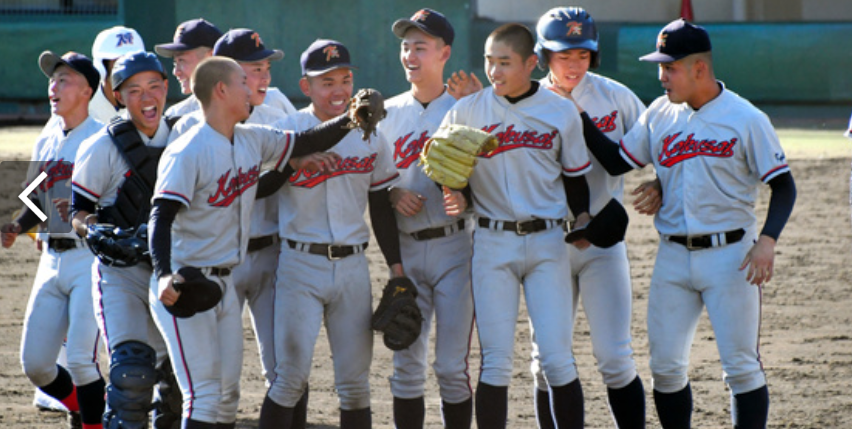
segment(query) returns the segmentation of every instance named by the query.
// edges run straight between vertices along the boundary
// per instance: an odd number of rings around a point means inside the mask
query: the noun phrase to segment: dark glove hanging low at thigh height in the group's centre
[[[388,280],[372,319],[373,329],[384,333],[385,346],[393,351],[407,349],[420,336],[422,323],[417,288],[411,279]]]

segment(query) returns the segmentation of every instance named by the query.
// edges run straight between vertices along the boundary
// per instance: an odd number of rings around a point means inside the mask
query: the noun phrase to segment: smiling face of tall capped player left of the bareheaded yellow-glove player
[[[450,58],[450,46],[443,39],[433,37],[418,28],[405,32],[399,48],[399,60],[405,78],[413,83],[443,81],[444,64]]]

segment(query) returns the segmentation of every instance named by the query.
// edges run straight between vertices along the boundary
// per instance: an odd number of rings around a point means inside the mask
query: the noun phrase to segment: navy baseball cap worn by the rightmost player
[[[657,50],[639,58],[639,61],[670,63],[683,57],[709,52],[710,35],[703,27],[683,18],[663,27],[657,35]]]

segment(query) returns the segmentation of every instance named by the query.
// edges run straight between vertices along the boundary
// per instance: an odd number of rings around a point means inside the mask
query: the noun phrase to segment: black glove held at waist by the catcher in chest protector
[[[110,267],[132,267],[148,259],[148,225],[121,229],[108,223],[89,225],[86,232],[89,250]]]

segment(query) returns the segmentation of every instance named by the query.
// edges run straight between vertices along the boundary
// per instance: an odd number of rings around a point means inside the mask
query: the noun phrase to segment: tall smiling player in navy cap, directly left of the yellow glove
[[[424,316],[417,342],[394,353],[390,377],[397,428],[422,428],[425,412],[429,329],[436,320],[435,361],[444,427],[469,428],[473,413],[467,357],[473,329],[470,295],[468,213],[445,213],[443,192],[426,177],[417,160],[423,144],[438,129],[456,99],[443,81],[455,36],[441,13],[422,9],[393,24],[401,39],[400,61],[411,90],[385,103],[388,116],[379,133],[390,145],[400,182],[391,189],[402,261],[417,285]]]

